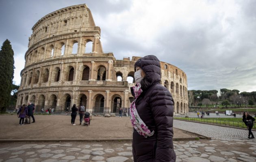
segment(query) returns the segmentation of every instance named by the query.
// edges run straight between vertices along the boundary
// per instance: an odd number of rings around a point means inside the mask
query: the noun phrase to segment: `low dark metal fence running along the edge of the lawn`
[[[216,116],[215,116],[216,117]],[[233,127],[239,127],[239,128],[247,128],[244,122],[236,122],[236,121],[228,121],[228,120],[219,120],[216,119],[208,119],[208,118],[199,118],[199,117],[183,117],[183,116],[174,116],[174,119],[181,119],[181,120],[187,120],[187,121],[195,121],[195,122],[201,122],[201,123],[209,123],[209,124],[217,124],[217,125],[224,125],[224,126],[233,126]],[[256,126],[252,127],[252,129],[256,129]]]

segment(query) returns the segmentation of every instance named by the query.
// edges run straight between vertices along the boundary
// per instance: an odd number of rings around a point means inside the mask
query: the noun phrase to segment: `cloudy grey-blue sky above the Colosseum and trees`
[[[0,0],[0,45],[11,41],[16,84],[33,25],[76,4],[87,4],[116,59],[156,55],[187,74],[188,90],[256,91],[255,0]]]

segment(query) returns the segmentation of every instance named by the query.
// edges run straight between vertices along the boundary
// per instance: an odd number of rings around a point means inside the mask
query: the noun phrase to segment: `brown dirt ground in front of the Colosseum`
[[[35,123],[19,125],[16,115],[0,116],[0,139],[131,139],[129,117],[92,117],[90,126],[71,125],[70,115],[35,115]],[[174,139],[196,134],[174,128]]]

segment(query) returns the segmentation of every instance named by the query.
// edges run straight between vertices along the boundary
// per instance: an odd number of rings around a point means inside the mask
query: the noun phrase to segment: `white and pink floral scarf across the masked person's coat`
[[[139,95],[142,93],[141,90],[141,84],[137,83],[137,86],[132,87],[134,94],[135,94],[135,100],[131,103],[130,106],[130,121],[132,122],[133,128],[142,136],[147,138],[148,136],[152,136],[154,134],[154,130],[150,132],[146,124],[142,121],[142,119],[139,117],[139,114],[137,112],[137,109],[135,107],[135,102]]]

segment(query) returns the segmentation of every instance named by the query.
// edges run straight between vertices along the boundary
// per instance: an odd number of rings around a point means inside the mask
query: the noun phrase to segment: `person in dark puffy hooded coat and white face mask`
[[[132,154],[134,162],[175,162],[172,138],[174,100],[160,84],[160,61],[154,55],[135,63],[135,100],[130,106]]]

